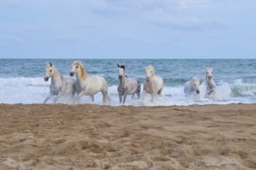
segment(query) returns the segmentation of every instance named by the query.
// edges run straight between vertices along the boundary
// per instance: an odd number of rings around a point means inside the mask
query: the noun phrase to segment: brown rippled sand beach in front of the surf
[[[0,169],[254,169],[256,104],[0,104]]]

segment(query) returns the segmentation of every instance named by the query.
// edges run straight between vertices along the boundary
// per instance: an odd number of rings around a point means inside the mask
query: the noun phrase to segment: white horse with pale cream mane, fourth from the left
[[[145,71],[146,81],[144,83],[143,99],[147,93],[150,93],[152,100],[154,100],[156,94],[161,96],[161,93],[164,89],[164,80],[162,79],[161,76],[154,75],[154,67],[151,65],[147,66]]]

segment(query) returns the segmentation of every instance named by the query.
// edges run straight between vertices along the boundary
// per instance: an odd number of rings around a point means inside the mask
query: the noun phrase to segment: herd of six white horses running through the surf
[[[140,98],[140,81],[136,77],[127,77],[125,74],[125,66],[117,64],[118,66],[118,76],[119,76],[119,86],[117,91],[119,93],[119,103],[123,104],[126,102],[126,96],[132,95],[134,97]],[[47,63],[46,73],[44,80],[48,81],[51,78],[50,83],[50,93],[43,101],[43,104],[47,103],[51,97],[54,97],[54,103],[60,97],[71,96],[74,98],[73,104],[79,102],[81,97],[90,96],[92,101],[94,101],[94,95],[96,93],[102,93],[102,103],[111,102],[108,95],[108,83],[103,76],[89,76],[85,71],[85,66],[82,65],[80,61],[74,61],[72,64],[71,72],[69,77],[63,77],[61,73],[52,63]],[[164,80],[161,76],[155,75],[154,66],[147,66],[146,68],[146,79],[144,82],[143,89],[143,100],[144,97],[149,93],[154,100],[156,95],[161,96],[164,89]],[[212,79],[212,68],[206,69],[206,92],[208,94],[215,94],[216,86]],[[76,74],[76,79],[73,77]],[[185,83],[184,92],[187,96],[199,94],[199,78],[193,77],[192,80]]]

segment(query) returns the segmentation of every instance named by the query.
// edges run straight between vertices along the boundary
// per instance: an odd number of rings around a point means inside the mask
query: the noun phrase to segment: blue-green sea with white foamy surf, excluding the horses
[[[145,68],[154,66],[155,73],[164,79],[161,97],[151,100],[148,94],[142,98],[126,98],[132,106],[187,106],[191,104],[255,104],[256,103],[256,59],[0,59],[0,103],[43,104],[50,92],[50,80],[45,82],[46,63],[53,63],[63,76],[69,76],[74,60],[85,66],[90,76],[104,76],[109,86],[111,106],[119,106],[117,87],[118,67],[126,66],[126,76],[140,80],[141,95],[145,81]],[[216,95],[206,94],[206,68],[213,68]],[[199,95],[186,96],[184,86],[193,76],[199,77]],[[54,97],[53,97],[54,98]],[[48,104],[53,104],[51,98]],[[71,104],[70,97],[57,103]],[[82,97],[79,104],[102,104],[102,94]]]

